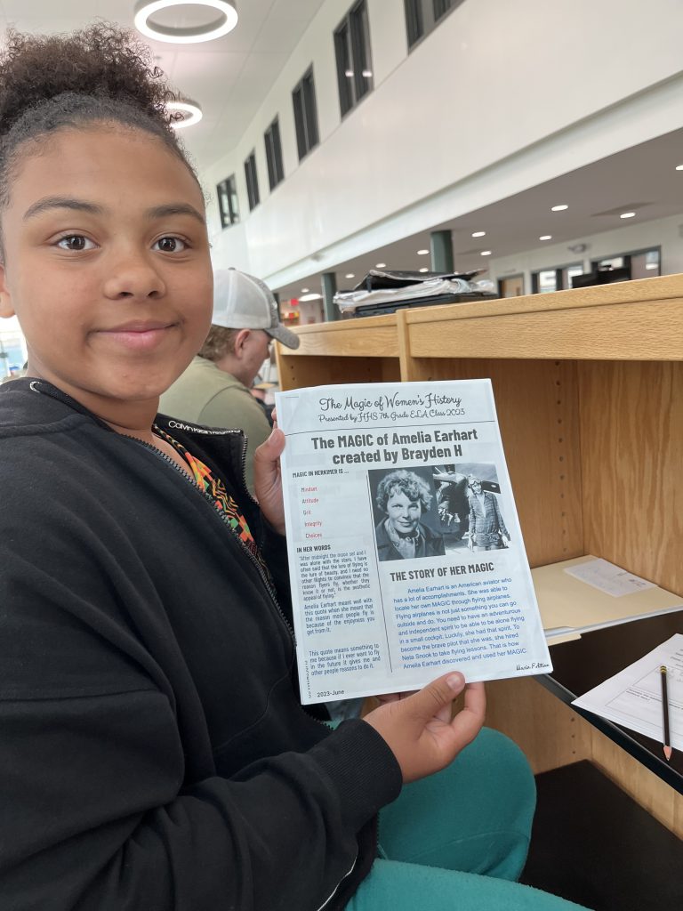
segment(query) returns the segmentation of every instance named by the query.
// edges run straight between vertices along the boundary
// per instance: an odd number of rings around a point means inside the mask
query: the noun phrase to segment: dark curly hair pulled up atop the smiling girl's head
[[[67,35],[10,30],[0,52],[0,207],[21,147],[61,128],[97,121],[158,137],[195,175],[166,105],[176,97],[151,50],[127,30],[98,22]]]

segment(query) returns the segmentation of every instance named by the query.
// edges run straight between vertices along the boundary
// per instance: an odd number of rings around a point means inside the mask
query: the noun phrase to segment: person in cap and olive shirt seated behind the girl
[[[272,339],[298,348],[299,338],[279,320],[270,288],[237,269],[214,272],[211,328],[199,354],[161,396],[159,410],[181,421],[243,430],[245,476],[253,493],[254,450],[270,435],[270,423],[250,393]]]

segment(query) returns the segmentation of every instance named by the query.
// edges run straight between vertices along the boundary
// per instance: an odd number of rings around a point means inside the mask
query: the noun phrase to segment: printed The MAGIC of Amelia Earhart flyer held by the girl
[[[304,704],[552,670],[489,380],[276,405]]]

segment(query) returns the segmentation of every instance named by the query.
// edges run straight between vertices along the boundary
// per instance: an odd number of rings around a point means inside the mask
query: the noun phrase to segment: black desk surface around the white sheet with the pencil
[[[567,704],[614,676],[674,633],[683,633],[683,609],[659,617],[632,620],[606,630],[584,633],[579,640],[551,646],[553,672],[539,677],[543,685]],[[664,758],[661,742],[608,722],[593,712],[576,709],[595,727],[629,752],[679,793],[683,793],[683,752]]]

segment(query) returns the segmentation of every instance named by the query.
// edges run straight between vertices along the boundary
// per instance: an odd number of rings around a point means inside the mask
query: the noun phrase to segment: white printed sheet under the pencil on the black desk
[[[683,750],[683,635],[676,633],[644,658],[586,692],[572,704],[593,711],[610,722],[622,724],[662,741],[662,699],[659,668],[668,671],[668,722],[671,746]]]

